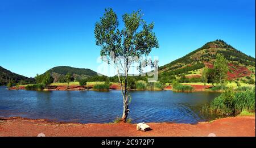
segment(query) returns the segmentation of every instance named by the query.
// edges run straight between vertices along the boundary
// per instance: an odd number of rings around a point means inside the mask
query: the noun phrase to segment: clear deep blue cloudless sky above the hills
[[[151,52],[167,64],[222,39],[255,57],[255,1],[0,1],[0,66],[27,77],[54,66],[97,70],[100,47],[94,24],[111,7],[121,16],[141,9],[155,22],[160,48]]]

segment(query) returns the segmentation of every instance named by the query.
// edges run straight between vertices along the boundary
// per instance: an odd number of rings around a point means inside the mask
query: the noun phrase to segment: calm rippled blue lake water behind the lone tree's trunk
[[[131,91],[133,122],[196,123],[210,117],[200,113],[217,92]],[[118,90],[26,91],[0,87],[0,117],[20,116],[68,122],[113,122],[122,115]]]

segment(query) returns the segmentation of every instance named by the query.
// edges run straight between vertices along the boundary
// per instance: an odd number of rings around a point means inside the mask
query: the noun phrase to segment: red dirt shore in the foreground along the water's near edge
[[[152,130],[141,132],[136,124],[77,124],[10,117],[0,120],[0,136],[253,136],[255,116],[228,117],[198,124],[147,123]]]

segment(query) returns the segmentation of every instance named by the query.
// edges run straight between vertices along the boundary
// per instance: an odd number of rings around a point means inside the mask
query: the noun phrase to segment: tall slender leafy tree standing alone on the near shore
[[[105,9],[104,15],[95,24],[94,34],[96,45],[101,46],[102,60],[112,64],[117,70],[123,96],[122,121],[126,122],[131,99],[127,94],[129,88],[127,87],[127,74],[130,66],[134,63],[140,64],[142,57],[147,56],[152,48],[158,48],[159,45],[155,33],[152,31],[154,23],[147,24],[142,19],[141,11],[124,14],[122,20],[124,27],[120,30],[117,14],[112,9]],[[156,62],[148,63],[156,66]],[[120,79],[121,72],[125,74],[124,84]]]

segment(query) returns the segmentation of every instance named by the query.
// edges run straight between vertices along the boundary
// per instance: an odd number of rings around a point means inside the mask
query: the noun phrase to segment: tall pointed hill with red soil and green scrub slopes
[[[160,66],[159,77],[167,81],[184,75],[186,78],[200,78],[203,67],[213,67],[217,53],[228,60],[229,80],[245,77],[255,79],[255,58],[247,56],[223,40],[210,41],[184,57]]]

